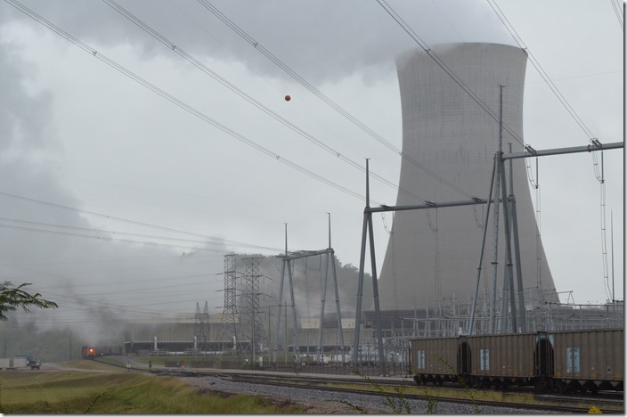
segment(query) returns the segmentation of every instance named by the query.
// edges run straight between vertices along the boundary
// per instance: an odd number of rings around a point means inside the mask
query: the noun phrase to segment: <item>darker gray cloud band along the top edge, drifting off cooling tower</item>
[[[28,3],[46,19],[87,44],[130,44],[144,57],[168,51],[102,2],[65,0]],[[241,61],[259,75],[289,79],[272,61],[197,2],[119,1],[152,29],[189,53]],[[394,70],[395,57],[418,47],[377,2],[308,0],[210,2],[247,36],[314,84],[335,83],[352,74],[371,79]],[[483,2],[393,2],[429,45],[447,42],[510,43],[501,23]],[[8,17],[28,19],[11,7]],[[476,21],[482,21],[477,28]],[[95,46],[95,45],[92,45]]]

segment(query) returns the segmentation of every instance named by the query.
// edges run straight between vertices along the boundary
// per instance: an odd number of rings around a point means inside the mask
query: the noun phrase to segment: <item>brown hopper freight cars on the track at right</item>
[[[623,329],[540,331],[411,339],[418,384],[476,388],[533,386],[538,391],[623,391]]]

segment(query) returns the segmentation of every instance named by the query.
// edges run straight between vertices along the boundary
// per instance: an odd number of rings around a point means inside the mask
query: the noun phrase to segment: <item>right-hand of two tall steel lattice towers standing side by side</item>
[[[246,266],[244,271],[244,281],[246,282],[245,297],[247,299],[246,313],[248,318],[248,325],[246,336],[250,340],[250,355],[252,363],[256,362],[256,356],[258,353],[263,352],[263,347],[267,346],[268,339],[265,336],[264,323],[262,321],[262,314],[259,308],[259,277],[262,275],[259,273],[259,264],[263,258],[244,258],[244,265]],[[248,349],[247,349],[248,350]],[[248,352],[247,352],[248,354]]]

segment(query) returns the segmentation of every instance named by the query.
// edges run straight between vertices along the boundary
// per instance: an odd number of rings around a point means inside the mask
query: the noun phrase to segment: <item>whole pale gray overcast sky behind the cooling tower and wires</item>
[[[525,143],[622,142],[622,11],[616,0],[0,2],[0,270],[85,308],[191,313],[222,305],[225,253],[278,254],[286,223],[290,250],[324,249],[327,213],[337,257],[358,265],[365,159],[372,205],[397,193],[399,54],[526,47]],[[597,156],[528,161],[551,272],[576,303],[611,298],[613,276],[623,298],[624,153],[605,151],[602,167]],[[379,267],[391,223],[375,219]]]

